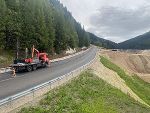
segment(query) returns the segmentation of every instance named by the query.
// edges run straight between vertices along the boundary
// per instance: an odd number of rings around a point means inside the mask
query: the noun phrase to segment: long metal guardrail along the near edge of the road
[[[51,86],[51,85],[53,85],[54,83],[56,83],[56,82],[58,82],[58,81],[60,81],[60,80],[62,80],[62,79],[64,79],[64,78],[67,78],[67,77],[69,77],[69,76],[75,74],[76,72],[82,72],[83,70],[87,69],[88,66],[96,59],[96,54],[97,54],[97,53],[95,53],[95,57],[94,57],[93,60],[91,60],[91,61],[88,62],[87,64],[81,66],[80,68],[78,68],[78,69],[76,69],[76,70],[74,70],[74,71],[71,71],[70,73],[67,73],[67,74],[65,74],[65,75],[63,75],[63,76],[60,76],[60,77],[58,77],[58,78],[55,78],[55,79],[53,79],[53,80],[50,80],[50,81],[45,82],[45,83],[43,83],[43,84],[40,84],[40,85],[38,85],[38,86],[35,86],[35,87],[33,87],[33,88],[30,88],[30,89],[28,89],[28,90],[26,90],[26,91],[23,91],[23,92],[21,92],[21,93],[15,94],[15,95],[10,96],[10,97],[7,97],[7,98],[5,98],[5,99],[3,99],[3,100],[0,100],[0,107],[2,107],[3,105],[9,104],[9,103],[11,103],[11,102],[14,102],[15,100],[20,99],[20,98],[22,98],[22,97],[24,97],[24,96],[26,96],[26,95],[28,95],[28,94],[34,94],[35,91],[38,91],[38,90],[40,90],[40,89],[42,89],[42,88],[44,88],[44,87],[46,87],[46,86]],[[26,103],[27,103],[27,102],[26,102]]]

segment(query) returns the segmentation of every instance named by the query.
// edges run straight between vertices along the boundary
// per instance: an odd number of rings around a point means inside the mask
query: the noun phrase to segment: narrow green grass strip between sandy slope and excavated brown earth
[[[150,105],[150,84],[140,79],[138,76],[129,76],[125,73],[123,69],[121,69],[116,64],[109,61],[107,58],[100,56],[100,61],[102,64],[115,71],[123,80],[125,80],[126,84],[147,104]]]

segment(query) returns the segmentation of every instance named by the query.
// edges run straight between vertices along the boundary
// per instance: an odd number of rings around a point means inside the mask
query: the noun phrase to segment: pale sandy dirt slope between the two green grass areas
[[[131,96],[135,100],[141,102],[142,104],[147,105],[142,99],[140,99],[126,84],[123,79],[119,77],[119,75],[103,66],[103,64],[100,62],[100,54],[97,55],[97,58],[95,59],[94,63],[91,65],[91,69],[93,72],[99,76],[101,79],[105,80],[107,83],[111,84],[112,86],[120,89],[125,94]],[[149,106],[149,105],[147,105]]]

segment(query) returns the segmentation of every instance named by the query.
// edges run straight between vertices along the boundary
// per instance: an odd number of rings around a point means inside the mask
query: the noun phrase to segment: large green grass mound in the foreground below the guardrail
[[[19,113],[150,113],[120,90],[90,72],[82,73],[67,85],[54,89],[34,107]]]

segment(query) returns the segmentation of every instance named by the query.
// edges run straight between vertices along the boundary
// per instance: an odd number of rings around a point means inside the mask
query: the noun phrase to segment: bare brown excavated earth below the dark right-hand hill
[[[150,83],[150,51],[111,51],[102,50],[101,54],[122,67],[130,75],[136,74]]]

